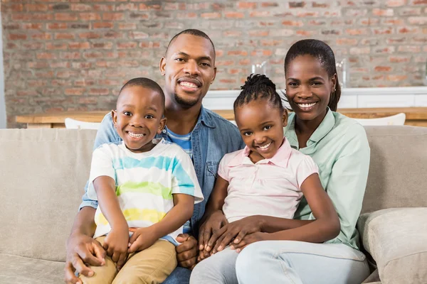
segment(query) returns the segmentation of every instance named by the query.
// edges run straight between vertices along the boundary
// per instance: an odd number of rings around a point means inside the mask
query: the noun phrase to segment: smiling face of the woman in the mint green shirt
[[[323,120],[337,75],[329,77],[320,61],[311,55],[300,55],[286,70],[286,97],[298,119]]]

